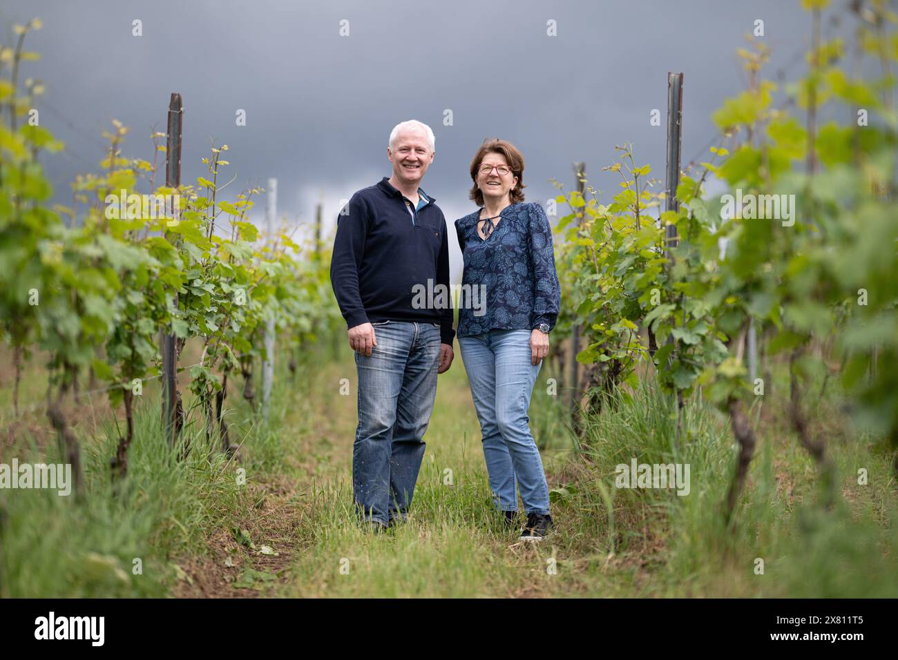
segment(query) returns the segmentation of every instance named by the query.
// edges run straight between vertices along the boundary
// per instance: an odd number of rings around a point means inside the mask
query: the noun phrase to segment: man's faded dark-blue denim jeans
[[[434,409],[440,330],[436,323],[372,323],[377,346],[356,352],[358,427],[352,485],[359,514],[389,524],[405,518]]]

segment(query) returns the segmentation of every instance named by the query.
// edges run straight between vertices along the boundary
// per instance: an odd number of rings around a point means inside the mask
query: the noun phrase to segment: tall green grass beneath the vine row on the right
[[[593,524],[581,523],[582,531],[603,540],[601,550],[613,552],[622,566],[646,568],[645,594],[898,595],[891,457],[863,439],[830,437],[843,497],[823,509],[815,497],[814,463],[783,432],[788,422],[780,411],[762,418],[760,406],[759,400],[753,409],[760,446],[734,527],[726,527],[722,509],[735,466],[726,418],[693,400],[678,439],[674,400],[649,382],[636,392],[618,392],[602,414],[588,419],[583,467],[565,505],[597,512]],[[818,402],[817,409],[833,414],[838,406]],[[615,488],[616,466],[632,458],[689,463],[690,494]],[[876,474],[871,485],[858,486],[858,466]]]

